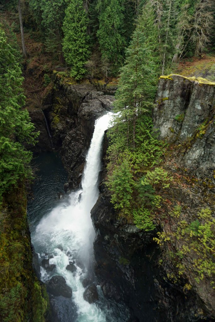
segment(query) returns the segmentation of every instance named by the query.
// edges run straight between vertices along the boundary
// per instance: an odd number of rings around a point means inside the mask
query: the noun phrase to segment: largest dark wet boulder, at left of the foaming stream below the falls
[[[53,276],[48,282],[46,282],[46,288],[47,291],[54,296],[71,298],[73,294],[72,289],[66,285],[66,280],[63,276]]]

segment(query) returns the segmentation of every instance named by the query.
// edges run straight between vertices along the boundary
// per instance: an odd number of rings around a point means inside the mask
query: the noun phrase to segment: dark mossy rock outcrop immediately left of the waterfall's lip
[[[55,90],[51,88],[44,97],[42,109],[49,122],[54,147],[61,148],[69,173],[67,190],[75,189],[81,182],[95,120],[112,109],[114,97],[104,95],[89,81],[71,84],[58,74],[54,76],[54,86]]]

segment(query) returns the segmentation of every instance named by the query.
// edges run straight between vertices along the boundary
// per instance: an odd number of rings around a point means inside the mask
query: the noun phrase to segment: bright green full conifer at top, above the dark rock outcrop
[[[81,79],[86,72],[85,64],[90,54],[87,33],[89,18],[82,0],[72,0],[65,14],[63,52],[66,62],[71,67],[71,76]]]

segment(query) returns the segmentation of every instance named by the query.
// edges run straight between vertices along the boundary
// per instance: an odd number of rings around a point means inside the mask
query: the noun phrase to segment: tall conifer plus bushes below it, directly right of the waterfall
[[[146,175],[140,175],[145,167],[158,165],[163,154],[163,143],[157,139],[150,115],[159,70],[158,30],[154,18],[151,5],[145,5],[121,69],[114,102],[116,116],[114,126],[109,130],[108,148],[111,202],[120,209],[121,215],[129,217],[132,213],[134,223],[145,231],[155,228],[151,211],[160,207],[161,202],[160,196],[155,198],[156,186],[164,188],[169,185],[167,172],[162,168],[144,170]],[[122,184],[119,179],[122,176],[118,173],[122,170],[118,169],[124,169],[125,164],[127,172],[123,172]],[[116,194],[118,191],[121,194]]]

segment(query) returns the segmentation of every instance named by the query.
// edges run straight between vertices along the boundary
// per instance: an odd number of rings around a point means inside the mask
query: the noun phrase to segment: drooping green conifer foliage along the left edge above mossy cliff
[[[23,110],[22,72],[15,60],[14,49],[0,26],[0,202],[2,194],[19,178],[31,175],[32,153],[23,143],[35,144],[38,133]]]

